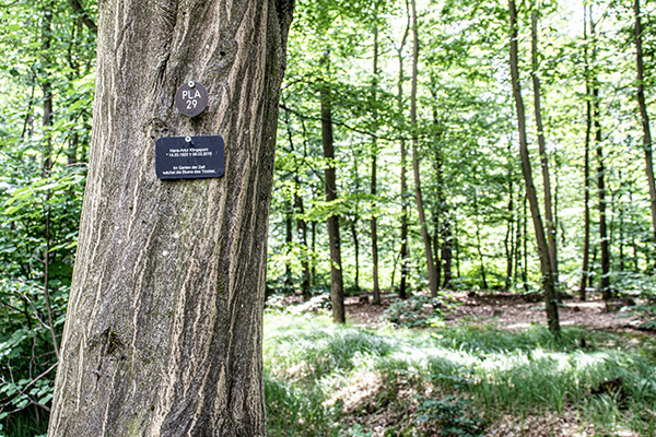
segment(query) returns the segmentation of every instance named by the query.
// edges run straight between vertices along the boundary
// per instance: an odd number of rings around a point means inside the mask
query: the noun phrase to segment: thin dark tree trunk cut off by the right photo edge
[[[649,184],[649,206],[652,209],[652,227],[654,248],[656,249],[656,181],[654,180],[654,161],[652,158],[652,131],[649,129],[649,116],[647,115],[647,105],[645,104],[645,84],[643,72],[643,49],[642,49],[642,22],[640,16],[640,0],[633,0],[633,12],[635,15],[635,63],[637,80],[637,106],[640,107],[640,117],[643,126],[643,146],[645,149],[645,173]]]

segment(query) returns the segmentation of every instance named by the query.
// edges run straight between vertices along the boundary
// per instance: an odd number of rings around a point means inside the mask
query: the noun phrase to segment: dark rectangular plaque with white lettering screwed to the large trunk
[[[161,138],[155,143],[155,170],[160,179],[221,177],[223,139],[216,137]]]

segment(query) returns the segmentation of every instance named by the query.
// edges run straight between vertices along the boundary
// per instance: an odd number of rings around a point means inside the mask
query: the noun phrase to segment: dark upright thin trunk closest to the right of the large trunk
[[[327,51],[324,55],[323,62],[328,64]],[[321,141],[324,144],[324,157],[326,158],[326,169],[324,177],[326,180],[326,201],[330,202],[337,199],[337,178],[335,168],[335,140],[332,137],[332,111],[330,109],[330,91],[321,87]],[[341,241],[339,238],[339,216],[332,214],[328,217],[328,241],[330,244],[330,300],[332,303],[332,320],[336,323],[347,321],[344,314],[344,285],[341,265]]]

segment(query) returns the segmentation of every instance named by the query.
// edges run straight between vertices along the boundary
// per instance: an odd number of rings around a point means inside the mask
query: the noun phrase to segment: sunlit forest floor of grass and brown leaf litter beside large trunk
[[[637,329],[646,320],[631,299],[565,297],[554,342],[540,295],[383,293],[380,305],[350,296],[341,327],[328,295],[272,296],[270,434],[656,437],[656,332]],[[619,391],[598,391],[614,379]],[[294,414],[303,418],[285,433]],[[469,418],[483,416],[484,434],[471,430]],[[330,417],[337,434],[325,429]],[[459,432],[443,434],[444,421]]]

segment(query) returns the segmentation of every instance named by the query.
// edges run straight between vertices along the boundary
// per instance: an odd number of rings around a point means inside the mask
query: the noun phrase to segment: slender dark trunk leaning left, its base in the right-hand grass
[[[518,47],[517,47],[517,10],[515,9],[515,0],[508,1],[511,12],[511,81],[513,83],[513,96],[515,98],[515,107],[517,110],[517,125],[519,131],[519,155],[522,157],[522,174],[526,185],[526,196],[530,208],[530,215],[534,222],[536,233],[536,243],[538,245],[538,256],[540,258],[540,271],[542,275],[542,290],[544,291],[544,300],[547,307],[547,320],[549,329],[552,332],[560,331],[560,322],[558,317],[558,304],[555,300],[555,288],[553,286],[553,269],[549,258],[549,247],[542,226],[542,217],[540,216],[540,205],[538,204],[538,196],[532,180],[530,169],[530,158],[528,155],[528,143],[526,141],[526,118],[524,114],[524,101],[522,99],[522,88],[519,86],[519,68],[518,68]]]

